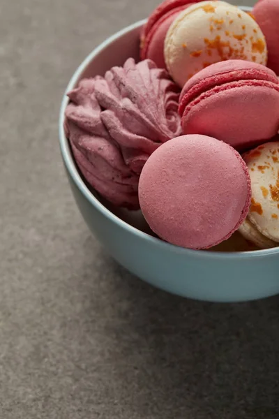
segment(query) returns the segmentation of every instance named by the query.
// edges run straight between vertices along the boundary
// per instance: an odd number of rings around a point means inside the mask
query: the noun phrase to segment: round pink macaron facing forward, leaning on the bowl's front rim
[[[225,142],[182,135],[150,156],[139,198],[147,223],[163,240],[208,249],[227,240],[248,214],[248,168]]]

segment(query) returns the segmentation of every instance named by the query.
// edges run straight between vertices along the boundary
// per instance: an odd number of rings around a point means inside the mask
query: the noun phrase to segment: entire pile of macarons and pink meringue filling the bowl
[[[142,61],[69,94],[66,134],[87,184],[140,207],[180,247],[236,234],[247,249],[279,246],[278,22],[278,0],[252,13],[163,1],[142,29]]]

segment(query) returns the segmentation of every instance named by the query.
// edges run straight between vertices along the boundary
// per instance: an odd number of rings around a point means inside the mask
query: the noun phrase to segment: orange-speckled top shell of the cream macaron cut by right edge
[[[244,154],[252,184],[249,220],[279,242],[279,142],[267,142]]]

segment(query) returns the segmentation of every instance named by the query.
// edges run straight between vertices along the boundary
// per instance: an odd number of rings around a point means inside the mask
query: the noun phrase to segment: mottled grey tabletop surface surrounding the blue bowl
[[[222,305],[153,289],[106,255],[70,196],[66,83],[155,5],[0,0],[1,419],[279,416],[278,297]]]

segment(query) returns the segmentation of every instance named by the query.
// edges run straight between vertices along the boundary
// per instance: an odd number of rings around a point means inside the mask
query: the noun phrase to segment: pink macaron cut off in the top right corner
[[[260,0],[256,3],[252,13],[266,38],[269,51],[267,66],[279,75],[279,1]]]

